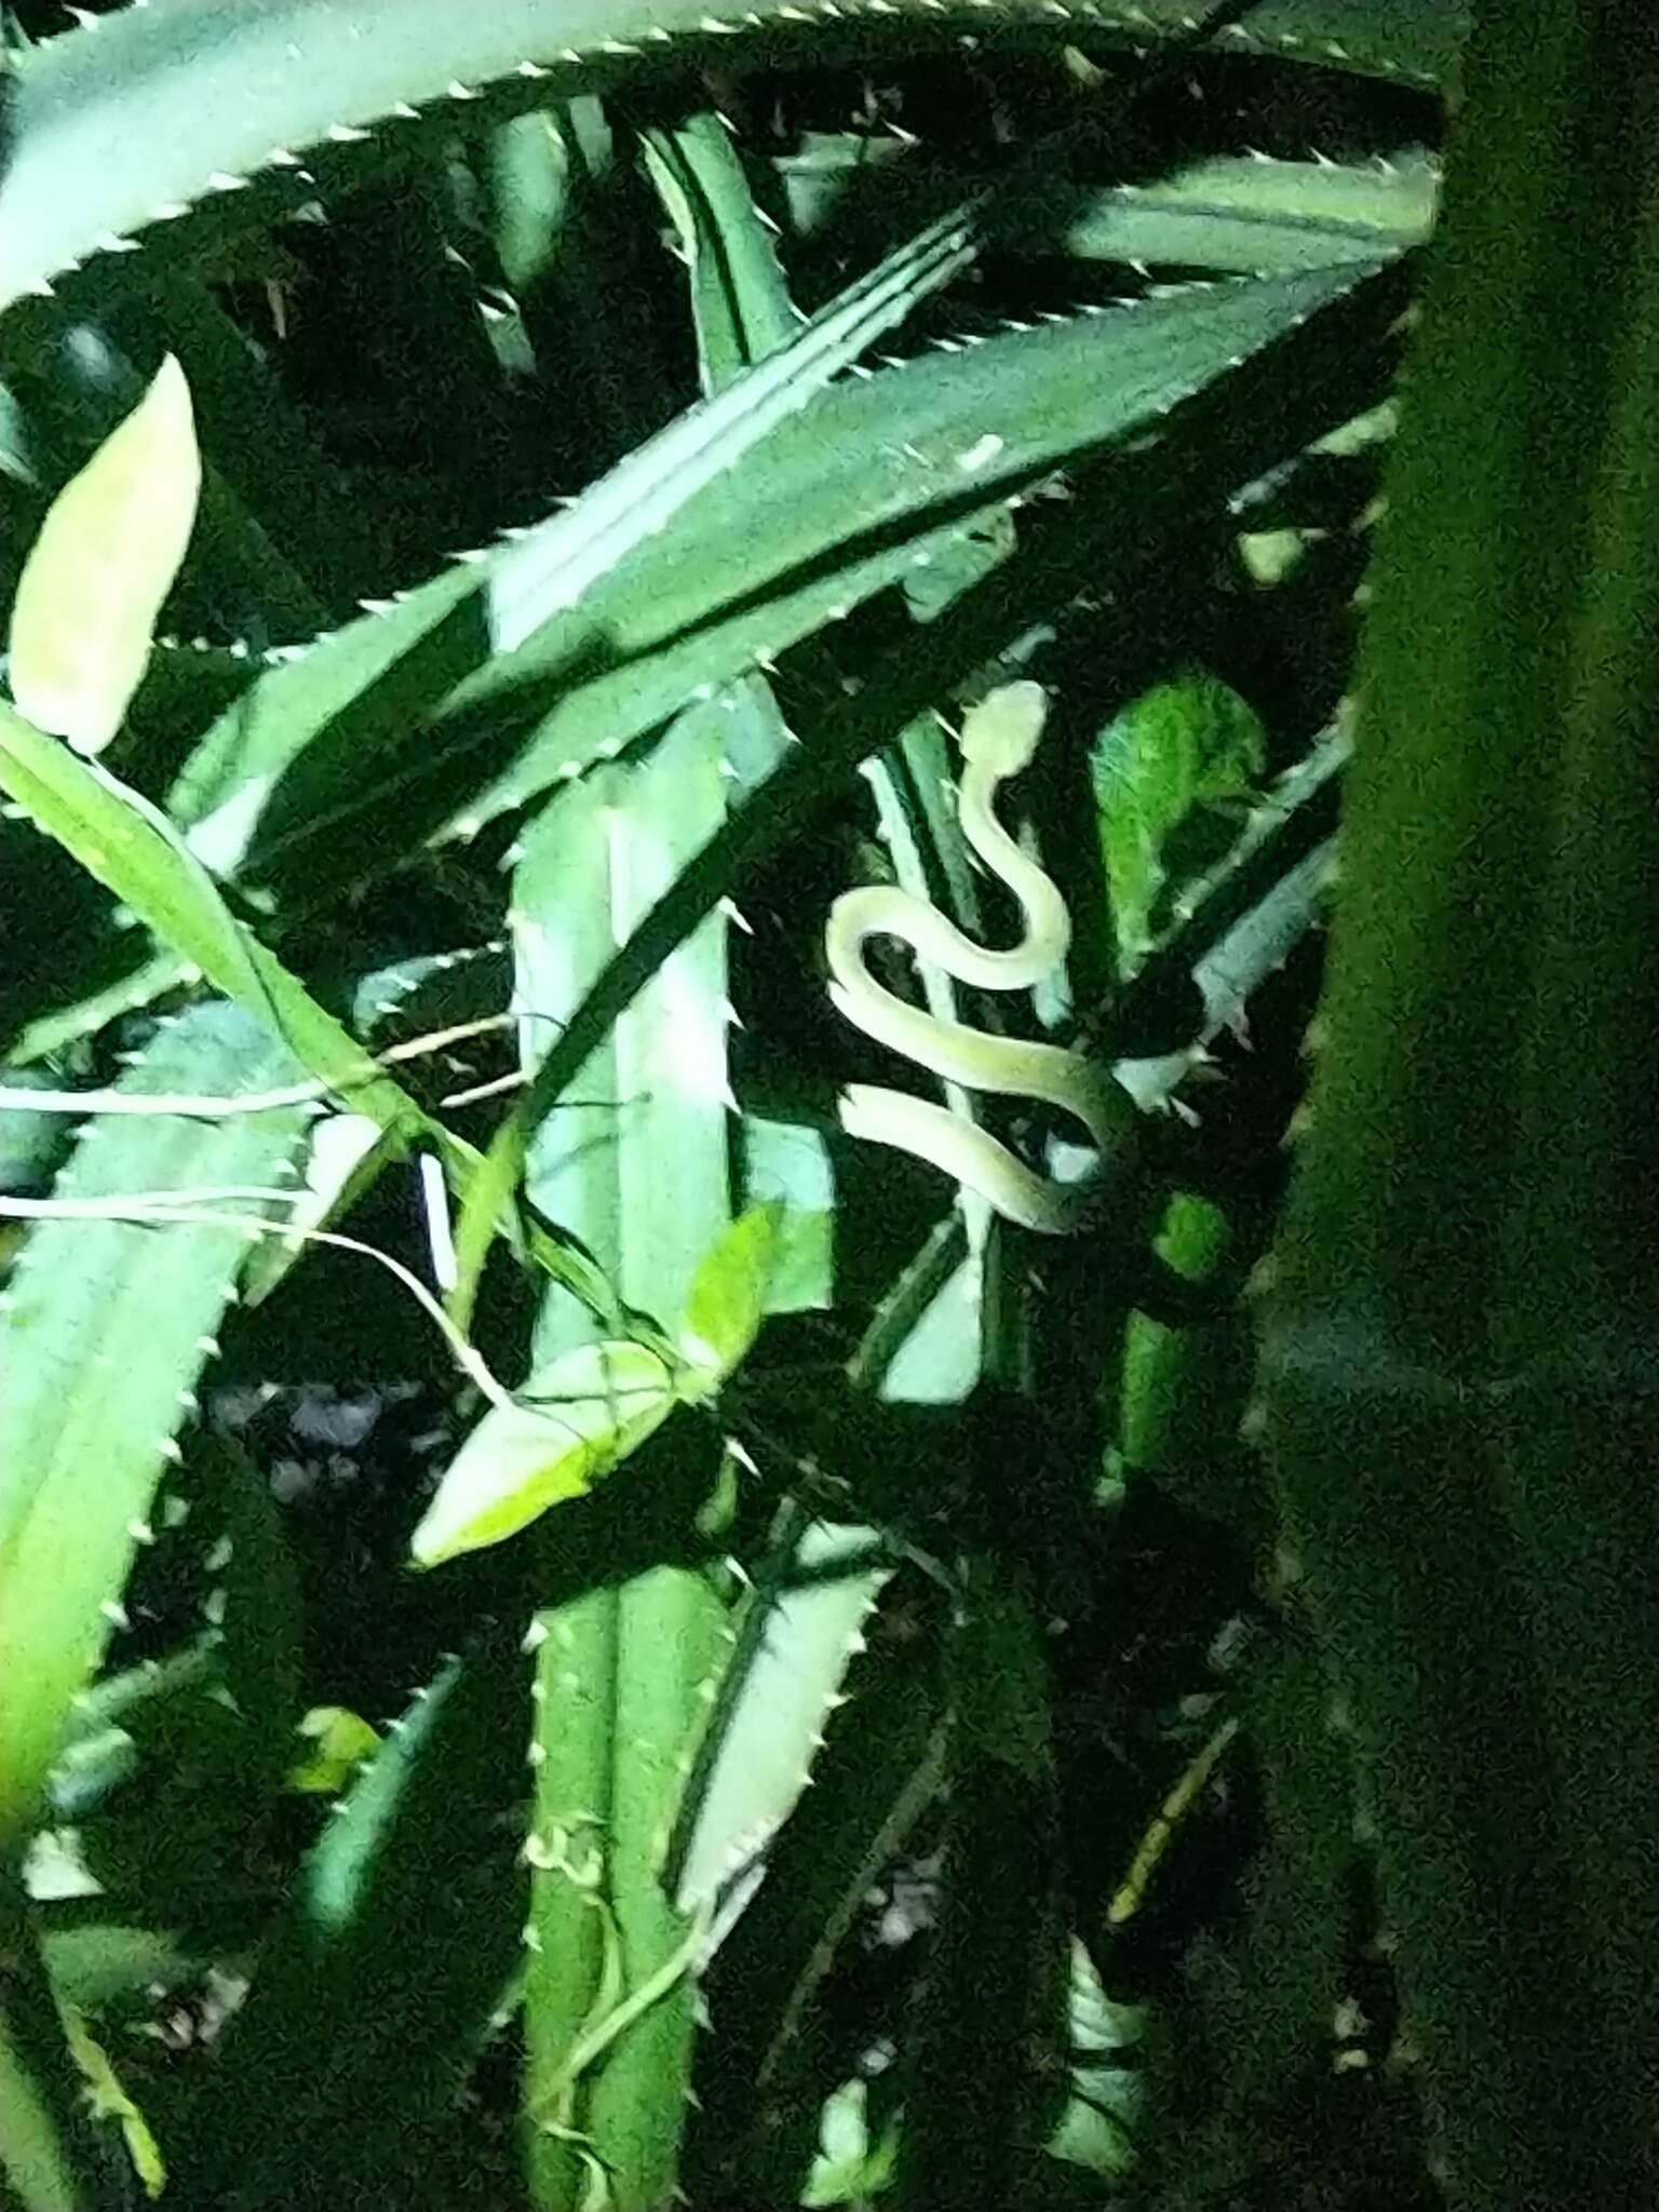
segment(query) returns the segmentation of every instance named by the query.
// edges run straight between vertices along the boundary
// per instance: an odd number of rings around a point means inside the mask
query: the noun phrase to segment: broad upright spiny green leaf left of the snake
[[[524,838],[511,896],[515,1002],[549,1018],[524,1024],[531,1066],[635,918],[717,834],[728,721],[712,703],[681,712],[648,759],[560,792]],[[591,1053],[573,1117],[555,1115],[526,1150],[531,1203],[582,1239],[628,1310],[664,1325],[686,1310],[732,1210],[728,995],[726,922],[710,916]],[[568,1298],[544,1298],[538,1365],[591,1334]],[[533,1624],[520,2101],[540,2212],[593,2205],[599,2172],[617,2212],[677,2194],[692,1931],[666,1896],[661,1845],[721,1624],[712,1577],[679,1566],[588,1588]]]

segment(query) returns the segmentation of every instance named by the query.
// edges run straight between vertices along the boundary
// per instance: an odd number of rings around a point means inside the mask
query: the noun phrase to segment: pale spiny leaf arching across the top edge
[[[365,18],[374,35],[365,38]],[[1228,49],[1433,84],[1455,73],[1464,0],[1263,0],[1243,9]],[[234,221],[272,190],[288,150],[330,133],[367,135],[394,111],[495,95],[504,108],[564,97],[597,80],[650,80],[719,55],[807,64],[922,53],[956,35],[1051,51],[1097,33],[1144,46],[1190,38],[1192,0],[215,0],[122,9],[51,38],[15,71],[0,197],[0,305],[108,250],[157,215],[210,206]],[[531,80],[531,82],[526,82]],[[473,111],[476,113],[476,111]],[[303,175],[303,170],[301,170]],[[248,217],[243,215],[243,221]],[[199,234],[201,226],[168,226]]]

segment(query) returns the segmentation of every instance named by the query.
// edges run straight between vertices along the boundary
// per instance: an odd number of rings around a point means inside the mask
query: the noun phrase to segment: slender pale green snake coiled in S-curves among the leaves
[[[964,1022],[938,1020],[896,998],[865,967],[865,942],[887,936],[978,991],[1029,991],[1066,958],[1066,900],[995,816],[998,785],[1031,763],[1046,712],[1048,699],[1040,684],[1004,684],[969,710],[960,734],[956,807],[962,836],[1020,902],[1026,925],[1020,942],[1009,951],[989,951],[925,898],[894,885],[865,885],[845,891],[830,907],[823,940],[830,1000],[865,1035],[942,1082],[1040,1099],[1075,1115],[1102,1164],[1110,1166],[1126,1152],[1137,1119],[1130,1095],[1110,1073],[1057,1044],[995,1037]],[[1015,1159],[989,1130],[902,1091],[847,1084],[841,1126],[849,1137],[914,1152],[978,1192],[1004,1219],[1048,1237],[1073,1234],[1097,1201],[1099,1175],[1082,1183],[1055,1183]]]

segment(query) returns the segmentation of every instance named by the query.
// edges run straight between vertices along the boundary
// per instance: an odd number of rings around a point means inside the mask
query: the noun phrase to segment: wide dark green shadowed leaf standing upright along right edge
[[[1650,33],[1478,11],[1263,1347],[1285,1564],[1482,2212],[1655,2192]]]

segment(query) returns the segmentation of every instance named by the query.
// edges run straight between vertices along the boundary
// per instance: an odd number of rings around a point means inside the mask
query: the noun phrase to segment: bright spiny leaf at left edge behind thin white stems
[[[164,1029],[122,1088],[217,1091],[292,1073],[226,1004]],[[292,1177],[303,1108],[226,1121],[111,1115],[55,1194],[86,1219],[35,1225],[0,1310],[0,1836],[38,1809],[71,1699],[93,1672],[188,1385],[234,1296],[248,1232],[97,1219],[133,1192],[263,1190]],[[223,1212],[223,1208],[221,1208]],[[261,1199],[237,1212],[259,1219]],[[184,1394],[184,1396],[181,1396]]]

